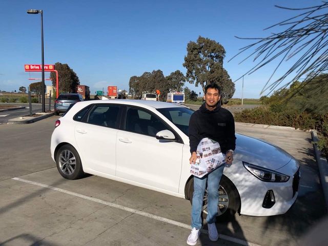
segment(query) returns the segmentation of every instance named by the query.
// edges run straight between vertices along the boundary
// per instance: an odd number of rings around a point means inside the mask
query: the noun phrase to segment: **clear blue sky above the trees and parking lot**
[[[278,9],[309,7],[320,1],[18,1],[2,0],[0,8],[0,90],[28,87],[24,64],[41,64],[40,15],[44,11],[45,64],[67,63],[81,85],[94,93],[103,87],[129,89],[131,76],[160,69],[165,76],[182,66],[187,44],[199,35],[219,42],[226,49],[223,67],[233,81],[247,72],[252,59],[238,65],[246,54],[228,60],[251,43],[240,37],[264,37],[273,24],[296,12]],[[273,29],[275,32],[281,28]],[[271,30],[271,31],[273,31]],[[286,62],[282,68],[288,67]],[[274,64],[244,77],[244,98],[259,98]],[[279,75],[279,71],[278,71]],[[49,78],[49,73],[46,73]],[[50,85],[50,81],[46,81]],[[197,93],[201,88],[186,83]],[[234,98],[241,97],[241,80]]]

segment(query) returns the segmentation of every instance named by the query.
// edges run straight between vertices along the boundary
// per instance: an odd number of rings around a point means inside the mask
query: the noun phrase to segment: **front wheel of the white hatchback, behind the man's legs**
[[[194,192],[194,178],[190,179],[187,184],[187,192],[189,196],[190,203],[192,204],[193,192]],[[240,197],[239,193],[230,181],[229,178],[222,175],[220,187],[219,187],[219,203],[218,203],[218,216],[217,220],[219,221],[229,221],[234,217],[235,213],[239,210],[240,207]],[[207,212],[207,203],[208,203],[208,192],[207,189],[204,193],[203,198],[203,214],[208,214]]]

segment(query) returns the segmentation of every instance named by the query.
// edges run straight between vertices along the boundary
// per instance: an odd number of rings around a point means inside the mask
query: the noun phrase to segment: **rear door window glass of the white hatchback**
[[[116,128],[119,106],[97,105],[90,112],[88,123],[97,126]]]

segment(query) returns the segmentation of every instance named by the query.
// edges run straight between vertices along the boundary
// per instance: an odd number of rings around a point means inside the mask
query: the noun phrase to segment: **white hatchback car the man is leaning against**
[[[192,200],[189,118],[181,105],[147,100],[83,101],[56,121],[51,156],[59,173],[85,173]],[[298,195],[299,163],[279,147],[236,134],[219,188],[219,219],[236,212],[283,214]],[[207,193],[203,211],[206,213]]]

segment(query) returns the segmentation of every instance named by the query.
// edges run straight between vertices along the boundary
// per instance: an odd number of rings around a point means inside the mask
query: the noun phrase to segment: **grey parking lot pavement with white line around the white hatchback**
[[[57,118],[0,126],[0,245],[186,245],[189,201],[97,176],[62,178],[50,157]],[[284,215],[218,223],[222,239],[202,234],[197,245],[297,245],[325,214],[310,133],[240,124],[236,131],[301,162],[299,197]]]

